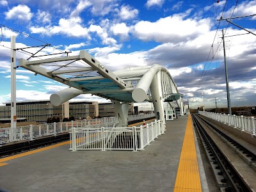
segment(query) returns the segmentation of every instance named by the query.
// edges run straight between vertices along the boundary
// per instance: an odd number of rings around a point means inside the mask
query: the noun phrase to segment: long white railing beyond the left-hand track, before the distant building
[[[98,118],[92,120],[79,120],[71,122],[60,122],[53,124],[28,125],[15,128],[0,129],[0,144],[9,143],[19,140],[33,140],[41,136],[56,135],[63,132],[68,132],[73,127],[93,127],[100,128],[102,126],[113,127],[116,125],[116,117]]]

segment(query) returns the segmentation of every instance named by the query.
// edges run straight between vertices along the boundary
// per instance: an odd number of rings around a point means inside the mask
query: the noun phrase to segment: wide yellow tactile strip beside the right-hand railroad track
[[[188,116],[188,124],[173,191],[202,191],[191,115]]]

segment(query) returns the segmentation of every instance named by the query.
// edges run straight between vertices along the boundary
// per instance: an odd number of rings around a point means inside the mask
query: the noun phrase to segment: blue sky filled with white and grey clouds
[[[256,106],[256,36],[232,37],[246,31],[225,20],[216,32],[222,12],[223,18],[232,13],[234,17],[253,15],[256,1],[0,0],[0,10],[0,104],[10,101],[10,49],[6,47],[10,47],[10,36],[16,35],[17,48],[47,42],[53,47],[46,47],[42,54],[61,50],[76,55],[84,49],[113,71],[163,65],[193,108],[202,106],[202,92],[205,108],[215,106],[215,97],[218,106],[225,107],[220,30],[227,29],[231,106]],[[256,16],[232,22],[256,33]],[[28,57],[17,52],[17,58]],[[49,99],[64,88],[63,84],[17,69],[17,100]],[[80,95],[75,100],[106,102],[92,95]]]

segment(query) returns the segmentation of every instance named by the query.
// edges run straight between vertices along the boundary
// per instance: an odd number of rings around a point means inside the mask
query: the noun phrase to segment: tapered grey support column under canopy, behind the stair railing
[[[113,103],[117,120],[121,122],[122,127],[127,127],[129,103],[121,104],[120,101],[116,101],[116,100],[112,100],[111,102]]]

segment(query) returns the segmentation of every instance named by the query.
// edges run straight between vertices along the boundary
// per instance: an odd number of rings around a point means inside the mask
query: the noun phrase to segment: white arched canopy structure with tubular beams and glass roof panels
[[[162,120],[163,102],[174,102],[183,115],[182,97],[167,68],[161,65],[111,72],[88,52],[80,51],[77,56],[35,61],[20,59],[19,66],[69,86],[51,95],[54,106],[60,106],[77,95],[90,93],[110,99],[123,125],[127,125],[129,102],[153,102],[156,118]]]

